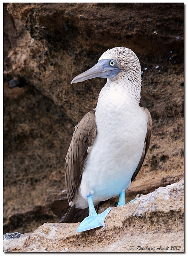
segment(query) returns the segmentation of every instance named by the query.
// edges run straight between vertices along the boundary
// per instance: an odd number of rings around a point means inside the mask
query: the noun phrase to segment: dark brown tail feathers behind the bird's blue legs
[[[110,200],[110,199],[108,199]],[[99,207],[104,203],[108,202],[108,200],[100,202],[95,206],[95,210],[98,213]],[[66,207],[65,211],[62,214],[62,218],[58,223],[78,223],[82,222],[86,217],[89,216],[89,207],[85,209],[75,208],[75,205],[70,207],[69,205]]]

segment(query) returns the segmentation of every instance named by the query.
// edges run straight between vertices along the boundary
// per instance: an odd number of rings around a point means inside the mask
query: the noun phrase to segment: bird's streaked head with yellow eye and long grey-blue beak
[[[91,78],[118,79],[123,75],[139,77],[141,80],[141,67],[136,54],[125,47],[115,47],[104,52],[97,64],[76,76],[70,84],[83,82]]]

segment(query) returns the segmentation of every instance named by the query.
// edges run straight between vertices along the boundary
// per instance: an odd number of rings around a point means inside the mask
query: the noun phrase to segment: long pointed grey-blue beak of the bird
[[[115,65],[115,67],[111,67],[109,65],[109,61],[110,60],[99,60],[95,66],[73,78],[70,84],[83,82],[96,77],[114,78],[121,69],[118,68],[117,65]]]

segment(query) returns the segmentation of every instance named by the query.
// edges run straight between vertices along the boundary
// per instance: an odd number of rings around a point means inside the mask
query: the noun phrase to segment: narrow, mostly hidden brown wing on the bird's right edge
[[[145,142],[144,142],[144,147],[143,147],[143,152],[142,152],[142,157],[138,163],[138,167],[137,169],[135,170],[132,178],[131,178],[131,182],[135,179],[135,177],[137,176],[139,170],[141,169],[142,167],[142,164],[143,164],[143,161],[145,159],[145,156],[146,156],[146,153],[147,153],[147,150],[149,148],[149,145],[150,145],[150,140],[151,140],[151,131],[152,131],[152,120],[151,120],[151,114],[149,112],[148,109],[146,108],[142,108],[146,114],[147,114],[147,117],[148,117],[148,122],[147,122],[147,133],[146,133],[146,138],[145,138]]]

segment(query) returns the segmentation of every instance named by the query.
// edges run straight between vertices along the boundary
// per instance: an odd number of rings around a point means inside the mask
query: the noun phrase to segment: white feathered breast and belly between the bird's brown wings
[[[100,202],[129,188],[143,151],[147,114],[123,86],[114,83],[101,90],[95,116],[97,136],[79,191],[85,200],[93,193],[93,201]]]

